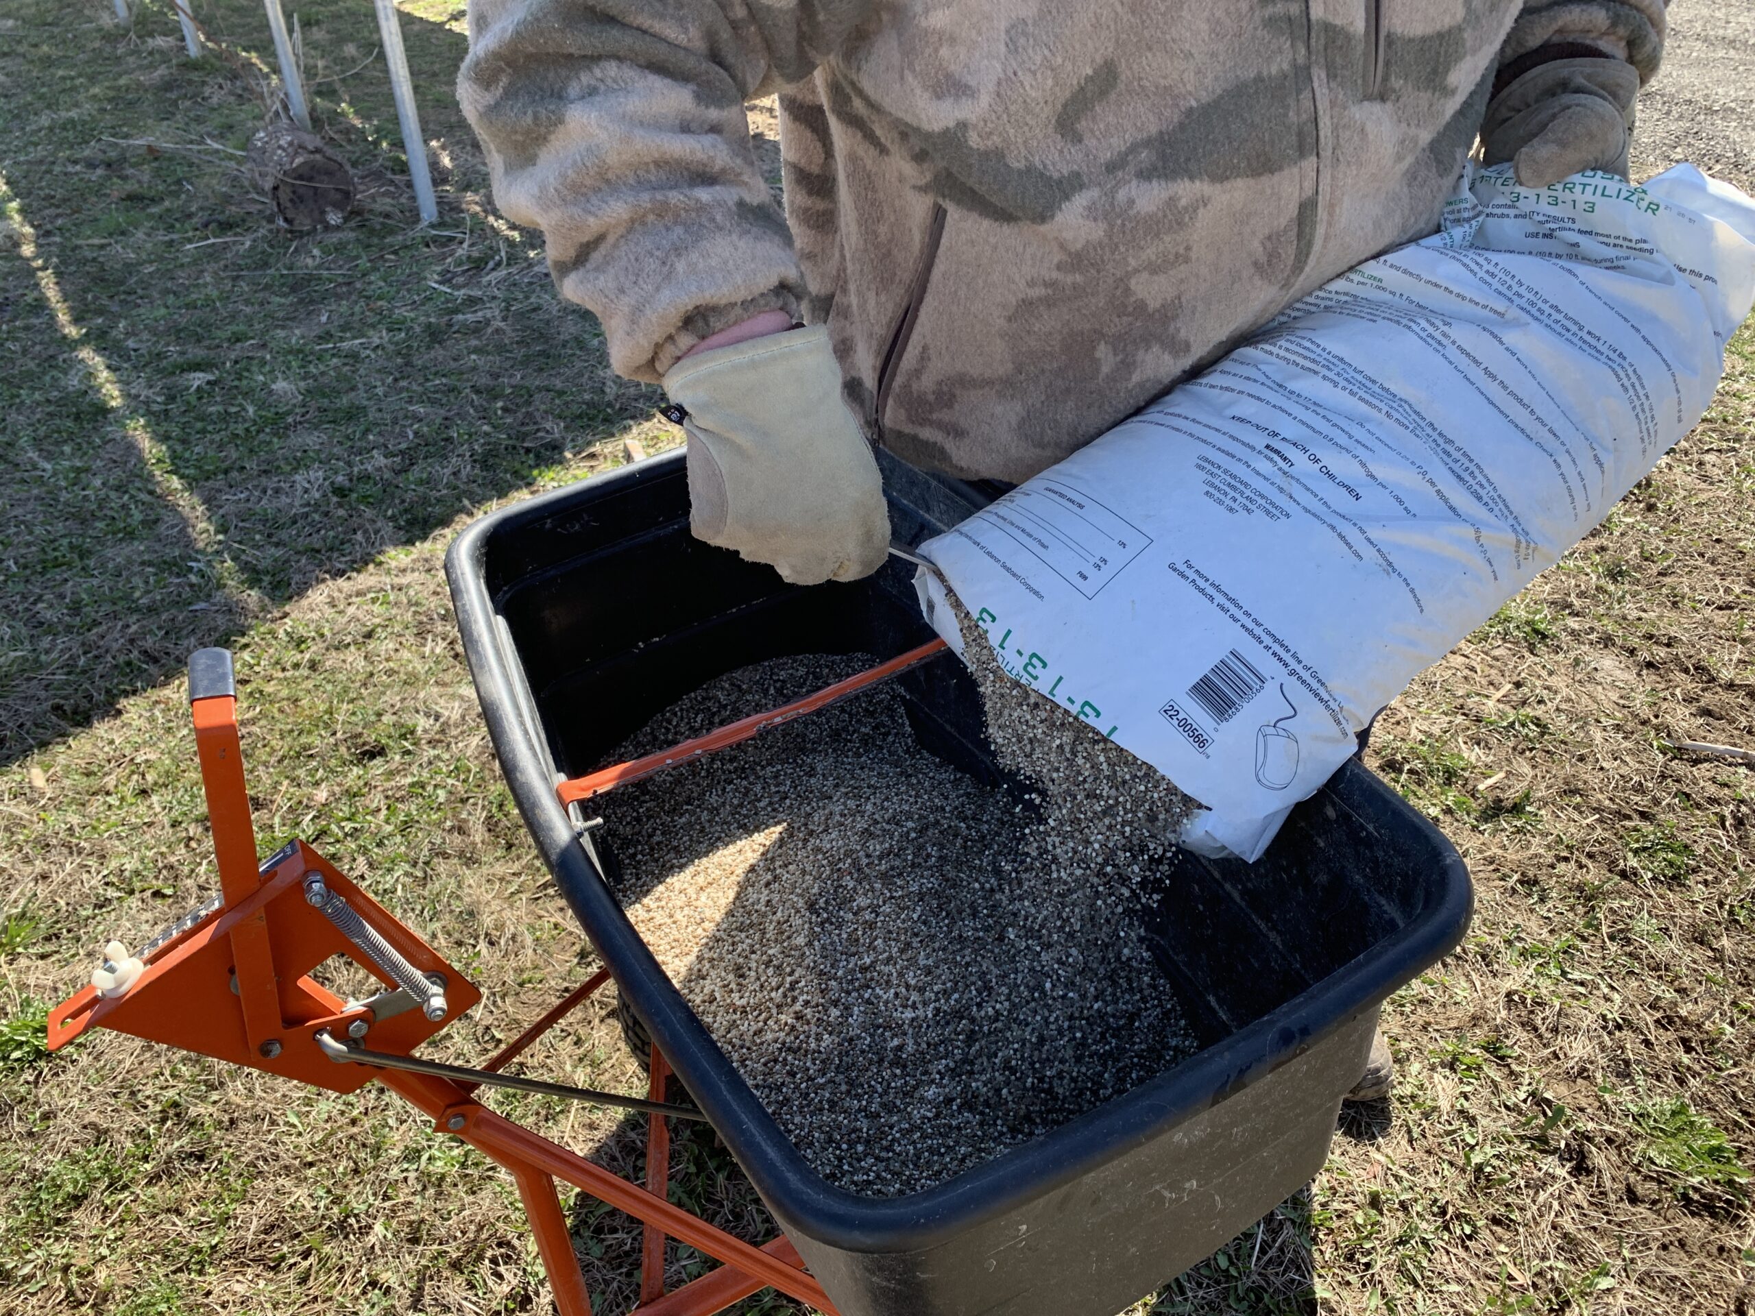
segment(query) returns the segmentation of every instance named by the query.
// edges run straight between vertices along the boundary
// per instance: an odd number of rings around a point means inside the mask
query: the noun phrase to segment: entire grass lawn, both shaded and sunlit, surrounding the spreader
[[[486,991],[474,1060],[593,969],[488,749],[441,576],[500,500],[672,442],[500,221],[449,95],[462,7],[404,5],[441,219],[414,207],[370,5],[297,5],[362,188],[276,230],[239,154],[260,5],[0,9],[0,1312],[548,1311],[509,1183],[395,1098],[333,1098],[42,1012],[214,886],[177,679],[239,654],[265,846],[318,846]],[[765,123],[765,121],[763,121]],[[1385,1012],[1393,1102],[1144,1312],[1755,1311],[1755,332],[1706,423],[1379,721],[1372,767],[1464,851],[1464,949]],[[609,1004],[532,1069],[632,1091]],[[497,1095],[625,1172],[634,1121]],[[674,1197],[770,1228],[683,1139]],[[637,1234],[570,1204],[598,1311]],[[672,1249],[674,1277],[702,1262]],[[795,1311],[755,1298],[741,1309]]]

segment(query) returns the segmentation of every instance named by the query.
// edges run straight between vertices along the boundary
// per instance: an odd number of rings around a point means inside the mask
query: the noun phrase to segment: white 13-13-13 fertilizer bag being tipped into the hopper
[[[1711,402],[1755,202],[1464,175],[1434,237],[1288,307],[921,546],[1006,670],[1200,800],[1255,860],[1425,667],[1604,518]]]

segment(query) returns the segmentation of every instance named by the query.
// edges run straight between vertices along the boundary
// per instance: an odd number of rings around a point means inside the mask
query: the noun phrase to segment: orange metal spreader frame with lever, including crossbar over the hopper
[[[925,646],[925,649],[934,649],[934,646]],[[735,744],[765,726],[823,707],[853,690],[930,658],[932,653],[925,649],[916,649],[881,669],[830,686],[809,700],[799,700],[799,704],[763,714],[763,718],[728,726],[716,733],[716,737],[728,735],[728,739],[713,746],[691,747],[700,742],[679,746],[672,755],[681,755],[681,758],[672,756],[670,762],[688,762],[688,758],[707,753],[709,747]],[[572,1251],[572,1235],[560,1209],[556,1179],[574,1184],[644,1223],[641,1300],[632,1316],[711,1316],[769,1286],[835,1316],[828,1295],[804,1269],[804,1262],[784,1235],[755,1248],[667,1200],[670,1132],[665,1116],[649,1116],[646,1183],[635,1184],[556,1142],[502,1119],[476,1100],[477,1084],[426,1074],[381,1070],[365,1063],[337,1063],[325,1056],[316,1046],[314,1035],[325,1028],[335,1035],[346,1035],[349,1025],[362,1019],[370,1028],[372,1049],[407,1055],[481,1000],[481,993],[304,842],[293,842],[258,867],[249,795],[244,788],[237,700],[233,695],[195,698],[191,709],[202,783],[207,790],[207,812],[214,833],[214,853],[219,860],[223,904],[144,956],[144,972],[125,993],[104,998],[95,988],[86,988],[58,1005],[49,1014],[51,1051],[67,1046],[86,1028],[102,1026],[281,1074],[332,1091],[355,1091],[377,1079],[430,1116],[435,1132],[460,1137],[512,1176],[562,1316],[591,1316],[591,1298]],[[702,740],[716,737],[702,737]],[[667,765],[660,763],[649,770]],[[623,767],[635,769],[639,763]],[[637,776],[646,776],[646,772],[625,774],[609,784],[632,781]],[[597,790],[607,790],[607,786]],[[597,790],[572,798],[588,798]],[[319,909],[307,904],[304,881],[309,874],[319,874],[328,890],[340,893],[367,925],[402,953],[414,969],[421,974],[444,976],[448,1012],[442,1019],[432,1021],[419,1009],[386,1019],[372,1019],[367,1009],[347,1009],[347,1002],[309,977],[312,969],[337,955],[355,960],[381,979],[384,977],[383,970],[369,963]],[[483,1069],[493,1072],[507,1065],[607,981],[609,972],[604,970],[577,986]],[[386,988],[395,986],[390,981],[384,984]],[[669,1065],[653,1046],[649,1077],[653,1100],[663,1100],[667,1076]],[[665,1293],[667,1237],[681,1239],[723,1265]]]

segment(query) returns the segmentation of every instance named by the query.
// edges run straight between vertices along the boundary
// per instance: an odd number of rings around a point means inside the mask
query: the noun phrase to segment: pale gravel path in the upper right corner
[[[1755,193],[1755,0],[1669,9],[1664,67],[1639,97],[1632,174],[1680,160]]]

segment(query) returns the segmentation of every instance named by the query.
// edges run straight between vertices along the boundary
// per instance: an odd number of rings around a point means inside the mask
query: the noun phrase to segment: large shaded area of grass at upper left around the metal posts
[[[19,0],[0,40],[0,763],[325,577],[565,477],[651,414],[504,225],[451,84],[460,5],[404,19],[439,223],[414,228],[370,5],[300,0],[360,204],[277,230],[242,170],[260,4]]]

